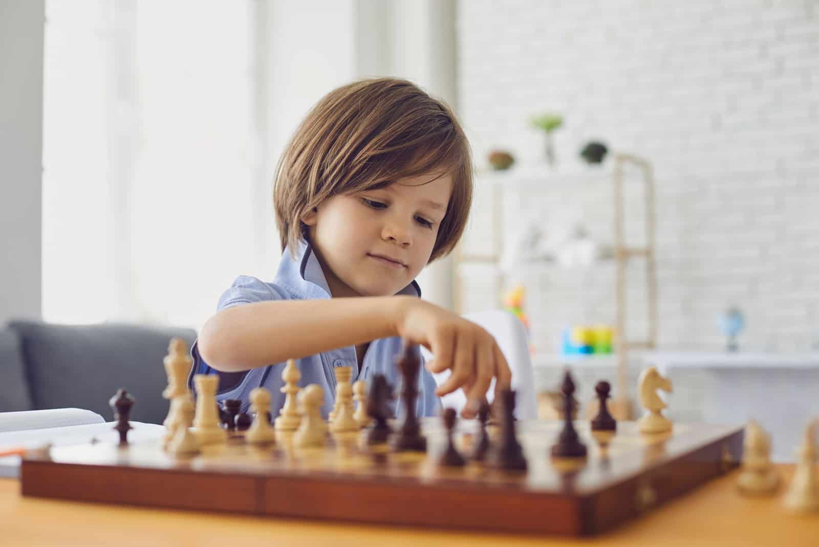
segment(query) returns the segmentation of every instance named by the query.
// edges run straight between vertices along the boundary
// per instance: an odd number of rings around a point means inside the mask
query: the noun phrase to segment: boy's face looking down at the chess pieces
[[[418,275],[452,193],[451,176],[436,176],[333,196],[302,219],[334,297],[394,295]]]

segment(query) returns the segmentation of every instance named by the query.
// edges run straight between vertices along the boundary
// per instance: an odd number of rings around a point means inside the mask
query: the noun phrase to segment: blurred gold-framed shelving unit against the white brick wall
[[[653,349],[657,341],[657,274],[656,256],[654,247],[655,232],[655,209],[654,209],[654,175],[649,162],[639,156],[628,154],[614,154],[610,160],[610,170],[604,170],[602,174],[596,174],[600,178],[609,178],[613,184],[613,260],[616,274],[613,284],[615,287],[615,328],[617,336],[614,341],[614,358],[617,365],[616,393],[618,396],[612,401],[612,411],[619,418],[631,418],[633,415],[632,405],[628,397],[631,391],[628,385],[628,355],[631,350]],[[644,208],[641,211],[642,219],[645,223],[645,244],[636,246],[630,245],[626,241],[625,219],[626,201],[624,197],[624,168],[627,165],[636,167],[642,174],[644,185]],[[495,268],[495,302],[500,305],[501,292],[505,289],[505,275],[500,271],[500,258],[504,248],[505,236],[505,215],[504,197],[509,188],[518,191],[525,191],[525,188],[532,185],[542,186],[545,183],[559,182],[562,184],[579,183],[581,180],[588,180],[595,176],[591,170],[576,173],[550,174],[546,171],[523,170],[509,172],[490,172],[479,174],[478,183],[488,184],[488,193],[483,194],[483,199],[491,201],[488,213],[491,216],[487,220],[489,228],[488,242],[489,248],[486,253],[463,251],[459,246],[455,251],[455,276],[459,279],[462,273],[462,266],[467,264],[487,264]],[[485,211],[486,212],[486,211]],[[485,234],[486,235],[486,234]],[[645,301],[647,304],[647,336],[645,339],[633,340],[627,333],[627,312],[630,308],[627,305],[627,265],[632,260],[645,261]],[[530,263],[527,268],[542,270],[557,268],[550,263]],[[531,305],[531,302],[529,303]],[[463,283],[455,283],[455,308],[458,313],[464,311]],[[567,360],[568,362],[568,360]],[[580,361],[577,361],[578,363]]]

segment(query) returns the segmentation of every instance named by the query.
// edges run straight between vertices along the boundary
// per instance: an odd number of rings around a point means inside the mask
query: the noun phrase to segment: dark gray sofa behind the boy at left
[[[162,423],[168,401],[162,359],[188,328],[123,323],[88,326],[11,321],[0,328],[0,412],[80,408],[113,419],[108,400],[124,387],[137,400],[130,418]]]

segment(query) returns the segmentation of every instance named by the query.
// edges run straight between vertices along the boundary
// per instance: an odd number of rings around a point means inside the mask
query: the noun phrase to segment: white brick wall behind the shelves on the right
[[[462,0],[457,26],[459,111],[479,165],[495,147],[541,162],[527,126],[538,111],[565,115],[561,170],[579,169],[591,138],[654,165],[661,348],[722,348],[717,317],[734,303],[744,348],[819,344],[817,0]],[[610,241],[600,178],[578,188],[557,176],[521,206],[549,218],[573,195]],[[541,351],[557,349],[565,323],[613,320],[613,268],[527,282]]]

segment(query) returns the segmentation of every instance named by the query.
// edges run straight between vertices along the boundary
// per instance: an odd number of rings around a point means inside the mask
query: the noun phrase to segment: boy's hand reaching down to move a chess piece
[[[437,396],[445,396],[459,387],[464,389],[467,405],[461,411],[464,418],[474,418],[486,391],[495,380],[495,396],[509,389],[512,374],[495,337],[480,325],[468,321],[440,306],[406,297],[399,307],[396,330],[402,338],[420,344],[432,352],[426,368],[452,373],[437,388]]]

